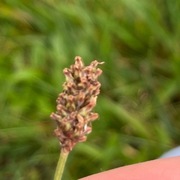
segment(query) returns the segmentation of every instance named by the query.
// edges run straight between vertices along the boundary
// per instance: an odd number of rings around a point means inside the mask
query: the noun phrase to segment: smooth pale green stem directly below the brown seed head
[[[63,171],[64,171],[64,167],[65,167],[68,155],[69,155],[68,152],[65,153],[65,152],[61,151],[60,157],[58,160],[58,164],[56,167],[56,172],[54,175],[54,180],[61,180],[62,179],[62,175],[63,175]]]

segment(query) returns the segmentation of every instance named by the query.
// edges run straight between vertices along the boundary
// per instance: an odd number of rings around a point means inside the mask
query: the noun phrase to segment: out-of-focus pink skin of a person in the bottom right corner
[[[180,156],[128,165],[80,180],[180,180]]]

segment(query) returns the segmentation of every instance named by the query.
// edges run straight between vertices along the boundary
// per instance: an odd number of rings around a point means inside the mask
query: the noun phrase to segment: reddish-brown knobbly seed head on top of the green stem
[[[66,82],[56,101],[57,111],[51,114],[57,123],[55,135],[64,152],[70,152],[76,143],[86,141],[91,122],[98,118],[98,114],[92,112],[101,86],[97,80],[102,73],[98,64],[103,62],[94,60],[84,66],[81,57],[77,56],[75,64],[64,69]]]

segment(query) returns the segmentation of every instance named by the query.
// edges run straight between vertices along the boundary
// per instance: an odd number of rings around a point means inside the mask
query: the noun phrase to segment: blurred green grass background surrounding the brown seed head
[[[180,1],[1,0],[0,178],[53,179],[49,118],[76,55],[104,61],[99,120],[64,180],[158,158],[180,144]]]

